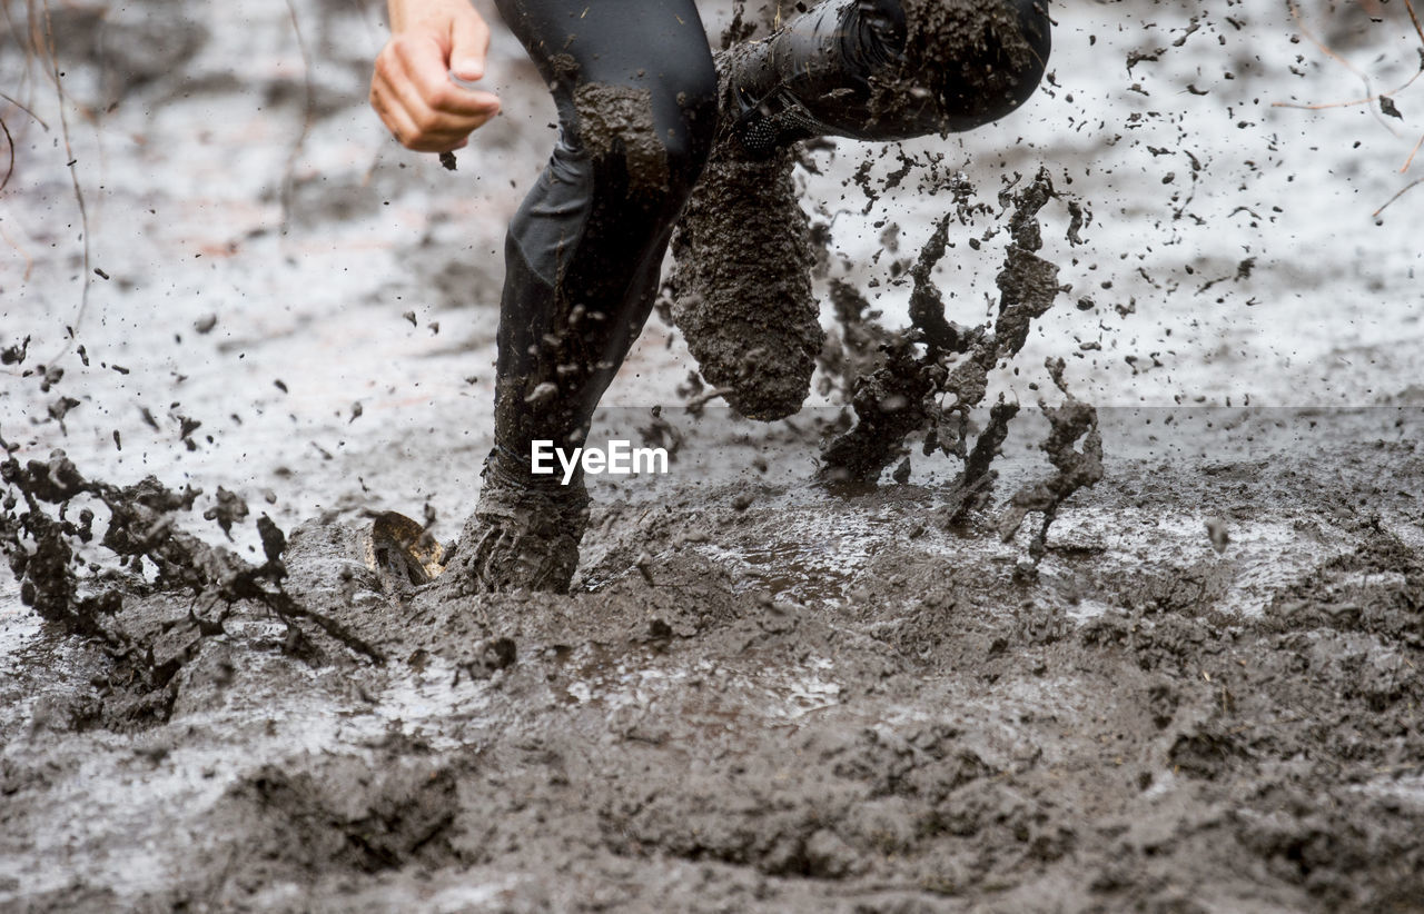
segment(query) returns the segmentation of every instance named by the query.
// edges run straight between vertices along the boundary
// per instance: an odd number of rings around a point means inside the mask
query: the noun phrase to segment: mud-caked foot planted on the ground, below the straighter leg
[[[501,448],[490,453],[483,476],[480,501],[447,565],[460,589],[568,592],[578,567],[578,542],[588,527],[590,500],[582,478],[568,485],[557,478],[535,478],[517,456]]]

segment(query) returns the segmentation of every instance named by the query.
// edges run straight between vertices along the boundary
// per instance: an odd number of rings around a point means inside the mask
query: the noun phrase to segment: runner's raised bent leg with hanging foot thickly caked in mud
[[[857,50],[817,44],[823,60],[797,47],[810,41],[800,33],[830,34],[837,16],[850,14],[842,11],[849,6],[800,9],[802,19],[765,41],[735,44],[718,56],[719,138],[672,239],[672,319],[703,377],[725,389],[728,403],[743,416],[759,420],[800,409],[824,343],[809,275],[823,255],[812,249],[809,219],[797,202],[792,171],[806,159],[792,141],[968,130],[1010,112],[1032,93],[1048,48],[1047,21],[1035,19],[1037,11],[1021,19],[1010,3],[906,3],[894,7],[894,16],[869,4],[857,7],[854,24],[846,26],[860,36]],[[748,34],[739,27],[742,16],[739,9],[725,46]],[[779,9],[775,19],[780,20]],[[849,56],[842,60],[842,54]],[[783,77],[783,70],[792,73]],[[803,75],[807,85],[797,83]],[[796,97],[776,101],[786,91]],[[786,107],[768,108],[760,117],[766,105]],[[748,118],[750,125],[743,125]],[[917,322],[930,320],[933,310],[921,306],[920,289],[926,270],[943,256],[943,229],[933,243],[938,253],[927,255],[928,266],[921,265],[916,280],[911,317]],[[1042,270],[1032,275],[1035,266],[1037,261],[1024,256],[1005,268],[1017,283],[1005,290],[1014,296],[1005,300],[1008,313],[1025,312],[1017,299],[1030,288],[1042,299],[1045,276]],[[921,330],[931,345],[951,347],[950,340],[936,343],[934,332],[947,330],[943,315],[937,320]],[[1008,349],[1021,346],[1022,340]],[[896,441],[901,436],[891,433]],[[867,464],[853,474],[870,473]]]

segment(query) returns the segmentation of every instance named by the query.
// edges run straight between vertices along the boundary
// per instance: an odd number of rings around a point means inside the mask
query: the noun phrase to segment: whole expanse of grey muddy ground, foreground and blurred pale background
[[[1334,6],[1312,34],[1404,83],[1400,4]],[[67,121],[19,50],[43,7],[6,7],[33,117],[3,108],[0,346],[31,342],[0,437],[202,488],[157,538],[259,592],[118,567],[94,495],[77,597],[121,608],[47,622],[0,584],[0,908],[1424,910],[1424,198],[1373,215],[1417,91],[1403,122],[1273,108],[1361,90],[1284,4],[1058,9],[1004,124],[796,172],[833,339],[836,280],[904,323],[944,214],[947,313],[991,316],[997,195],[1052,172],[1071,290],[988,377],[1025,409],[985,501],[947,524],[960,466],[918,441],[879,487],[815,481],[853,359],[789,421],[681,409],[655,317],[595,437],[676,443],[671,473],[595,481],[571,595],[457,598],[373,572],[363,531],[449,541],[474,503],[543,88],[497,33],[507,114],[450,175],[362,110],[376,7],[182,7],[51,1]],[[1001,521],[1052,471],[1045,357],[1104,478],[1035,564],[1038,515]]]

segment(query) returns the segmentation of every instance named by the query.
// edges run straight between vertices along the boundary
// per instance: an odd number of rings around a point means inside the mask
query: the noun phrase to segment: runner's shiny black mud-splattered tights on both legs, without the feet
[[[870,104],[871,71],[907,47],[906,13],[923,3],[829,0],[756,46],[738,73],[746,85],[725,104],[790,88],[805,104],[800,122],[812,127],[787,141],[869,140],[968,130],[1032,93],[1048,56],[1047,0],[956,0],[957,27],[983,20],[1017,30],[1034,53],[1000,80],[1001,91],[941,80],[936,120],[880,117]],[[554,154],[506,241],[496,443],[517,463],[534,438],[564,446],[587,434],[652,308],[668,238],[718,132],[719,88],[693,0],[497,4],[548,83],[560,118]],[[958,68],[1004,70],[997,44],[985,38]]]

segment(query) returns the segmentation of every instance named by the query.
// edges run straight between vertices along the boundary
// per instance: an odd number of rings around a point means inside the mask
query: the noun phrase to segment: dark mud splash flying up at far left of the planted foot
[[[266,561],[253,565],[179,527],[201,490],[172,491],[154,477],[117,487],[84,478],[60,450],[47,461],[21,464],[9,456],[14,446],[0,438],[0,448],[7,454],[0,463],[0,551],[24,605],[63,632],[101,642],[114,659],[104,678],[107,695],[91,713],[105,726],[167,720],[175,675],[205,639],[226,635],[236,604],[259,606],[279,622],[282,649],[293,656],[319,662],[335,648],[384,662],[379,651],[283,589],[286,537],[265,514],[256,531]],[[239,504],[228,493],[205,518],[231,534],[232,517],[246,514]],[[95,522],[103,524],[97,542]],[[135,601],[142,608],[125,614]]]

